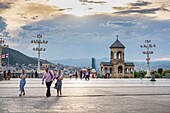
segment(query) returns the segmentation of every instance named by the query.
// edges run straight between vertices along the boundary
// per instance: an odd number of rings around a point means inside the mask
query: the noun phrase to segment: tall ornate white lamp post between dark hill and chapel
[[[41,44],[47,44],[47,40],[40,40],[42,38],[42,35],[38,34],[37,35],[38,40],[31,40],[31,43],[33,44],[38,44],[38,47],[33,48],[33,51],[38,51],[38,69],[37,71],[40,71],[40,52],[45,51],[45,48],[41,47]]]

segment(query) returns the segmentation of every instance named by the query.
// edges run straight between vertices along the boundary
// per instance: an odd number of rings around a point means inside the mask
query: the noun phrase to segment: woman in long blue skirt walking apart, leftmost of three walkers
[[[25,84],[26,84],[26,74],[25,74],[25,71],[24,71],[24,70],[22,70],[20,79],[21,79],[21,80],[20,80],[20,91],[21,91],[21,93],[19,94],[19,96],[21,96],[22,93],[23,93],[23,95],[25,95],[24,86],[25,86]]]

